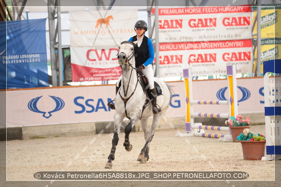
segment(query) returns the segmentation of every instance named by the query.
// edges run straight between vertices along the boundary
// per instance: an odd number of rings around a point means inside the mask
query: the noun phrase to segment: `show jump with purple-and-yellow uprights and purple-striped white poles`
[[[202,123],[194,123],[194,117],[215,117],[215,118],[230,118],[230,116],[238,115],[238,104],[237,104],[237,83],[236,83],[236,65],[227,64],[227,80],[228,80],[228,90],[229,90],[229,100],[193,100],[192,97],[192,70],[184,69],[183,76],[185,79],[185,89],[186,89],[186,122],[185,122],[185,132],[179,134],[181,137],[190,136],[201,136],[201,137],[211,137],[219,138],[220,141],[232,141],[232,136],[229,134],[214,134],[205,133],[205,130],[214,131],[228,131],[229,127],[220,126],[206,126]],[[193,111],[193,105],[196,104],[208,104],[208,105],[228,105],[229,113],[196,113]],[[201,131],[201,132],[198,132]]]

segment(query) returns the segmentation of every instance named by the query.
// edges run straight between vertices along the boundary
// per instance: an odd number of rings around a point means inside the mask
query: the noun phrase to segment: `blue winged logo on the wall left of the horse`
[[[31,110],[32,112],[37,112],[37,113],[42,113],[43,114],[43,117],[46,117],[46,118],[49,118],[52,116],[51,113],[53,112],[57,112],[59,110],[61,110],[63,107],[64,107],[64,101],[59,98],[59,97],[55,97],[55,96],[50,96],[52,99],[54,99],[54,101],[56,102],[56,107],[50,111],[50,112],[44,112],[44,111],[40,111],[38,110],[37,108],[37,102],[40,98],[42,98],[43,96],[40,96],[40,97],[37,97],[37,98],[33,98],[31,99],[29,102],[28,102],[28,108],[29,110]],[[46,113],[48,113],[48,115],[46,115]]]

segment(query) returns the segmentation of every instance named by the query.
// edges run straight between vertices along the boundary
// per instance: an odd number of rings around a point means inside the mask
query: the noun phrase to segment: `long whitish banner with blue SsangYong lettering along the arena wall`
[[[168,116],[184,117],[185,83],[178,81],[167,84],[174,90]],[[228,99],[227,84],[226,79],[193,81],[193,99]],[[263,78],[237,79],[237,86],[238,112],[263,113]],[[115,110],[106,105],[115,97],[115,85],[2,91],[0,92],[2,100],[5,100],[6,93],[7,108],[1,105],[0,128],[113,121],[115,113]],[[195,105],[194,111],[227,113],[228,108],[223,105]],[[184,127],[184,124],[182,125]]]

